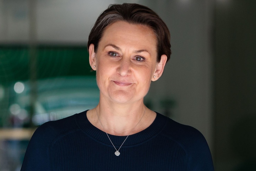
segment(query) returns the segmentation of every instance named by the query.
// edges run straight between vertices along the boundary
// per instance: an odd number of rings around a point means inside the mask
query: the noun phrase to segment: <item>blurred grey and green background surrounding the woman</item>
[[[256,1],[0,0],[0,171],[20,170],[44,122],[98,103],[87,39],[109,4],[139,3],[171,33],[146,105],[206,137],[216,171],[256,170]]]

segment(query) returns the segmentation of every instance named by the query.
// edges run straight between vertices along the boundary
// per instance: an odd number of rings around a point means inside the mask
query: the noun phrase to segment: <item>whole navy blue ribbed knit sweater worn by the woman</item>
[[[32,136],[21,171],[213,171],[203,135],[157,113],[145,130],[130,135],[120,156],[86,112],[41,125]],[[118,149],[126,136],[109,135]]]

